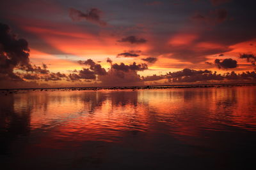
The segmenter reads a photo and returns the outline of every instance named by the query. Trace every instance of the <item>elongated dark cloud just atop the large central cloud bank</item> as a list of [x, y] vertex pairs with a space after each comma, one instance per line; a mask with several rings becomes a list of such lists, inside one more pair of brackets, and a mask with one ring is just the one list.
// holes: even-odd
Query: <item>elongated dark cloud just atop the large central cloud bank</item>
[[133, 62], [130, 65], [126, 65], [123, 62], [121, 64], [113, 64], [112, 65], [113, 69], [128, 72], [128, 71], [143, 71], [145, 69], [148, 69], [147, 64], [136, 64], [136, 62]]

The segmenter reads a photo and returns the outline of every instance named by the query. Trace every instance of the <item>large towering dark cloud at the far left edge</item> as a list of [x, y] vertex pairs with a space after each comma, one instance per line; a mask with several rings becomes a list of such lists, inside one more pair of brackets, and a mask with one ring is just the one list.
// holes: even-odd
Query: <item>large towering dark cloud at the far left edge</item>
[[0, 87], [38, 87], [38, 80], [58, 81], [65, 78], [67, 76], [60, 72], [51, 73], [44, 63], [42, 66], [31, 65], [28, 41], [17, 38], [8, 25], [0, 24]]

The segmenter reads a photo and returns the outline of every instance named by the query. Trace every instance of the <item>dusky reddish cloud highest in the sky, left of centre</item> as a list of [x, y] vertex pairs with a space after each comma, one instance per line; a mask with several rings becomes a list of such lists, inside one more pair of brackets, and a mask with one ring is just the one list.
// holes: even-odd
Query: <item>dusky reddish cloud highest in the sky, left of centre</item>
[[105, 26], [107, 25], [107, 23], [101, 20], [101, 15], [102, 15], [102, 11], [100, 11], [98, 8], [91, 8], [90, 10], [86, 11], [86, 13], [83, 13], [82, 11], [76, 10], [74, 8], [69, 9], [69, 16], [74, 21], [79, 21], [84, 19], [84, 20], [87, 20], [88, 22]]

